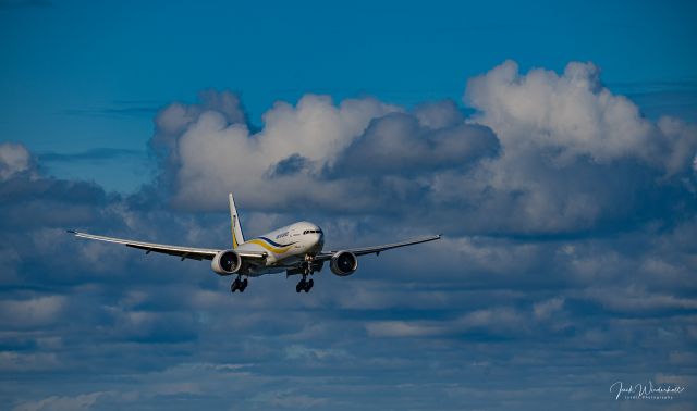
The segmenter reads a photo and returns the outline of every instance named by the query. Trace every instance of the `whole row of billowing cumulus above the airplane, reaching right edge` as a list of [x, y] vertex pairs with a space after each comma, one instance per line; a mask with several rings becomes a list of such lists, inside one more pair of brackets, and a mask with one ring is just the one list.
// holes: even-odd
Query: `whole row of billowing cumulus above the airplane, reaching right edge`
[[152, 144], [188, 210], [222, 210], [227, 190], [259, 211], [408, 220], [418, 203], [449, 234], [540, 235], [629, 229], [694, 197], [695, 126], [645, 119], [592, 63], [523, 74], [508, 61], [472, 78], [464, 102], [475, 114], [307, 95], [250, 129], [234, 95], [209, 91], [163, 109]]

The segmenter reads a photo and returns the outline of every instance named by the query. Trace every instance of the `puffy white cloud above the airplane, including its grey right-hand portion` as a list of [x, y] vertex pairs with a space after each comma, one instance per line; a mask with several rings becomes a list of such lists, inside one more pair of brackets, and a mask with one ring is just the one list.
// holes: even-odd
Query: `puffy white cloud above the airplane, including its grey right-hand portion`
[[[465, 124], [452, 101], [408, 113], [371, 98], [334, 105], [307, 95], [295, 107], [277, 103], [257, 132], [224, 111], [175, 103], [158, 115], [152, 144], [163, 149], [162, 180], [181, 207], [220, 209], [224, 199], [213, 192], [233, 190], [252, 209], [370, 211], [423, 189], [407, 187], [406, 167], [462, 170], [498, 151], [491, 130]], [[350, 192], [362, 195], [346, 201]]]

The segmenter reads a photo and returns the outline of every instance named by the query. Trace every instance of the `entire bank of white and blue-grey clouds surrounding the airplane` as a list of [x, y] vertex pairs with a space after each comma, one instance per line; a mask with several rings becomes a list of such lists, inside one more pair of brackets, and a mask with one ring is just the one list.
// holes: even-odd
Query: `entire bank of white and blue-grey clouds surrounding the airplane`
[[[695, 128], [656, 122], [591, 64], [508, 62], [413, 110], [305, 96], [250, 130], [208, 91], [156, 117], [160, 177], [133, 196], [42, 174], [0, 145], [0, 398], [16, 409], [540, 409], [697, 384]], [[264, 189], [261, 189], [264, 188]], [[253, 278], [76, 239], [200, 247], [294, 220], [328, 246], [444, 232], [348, 278]]]

